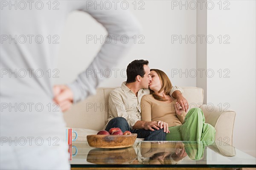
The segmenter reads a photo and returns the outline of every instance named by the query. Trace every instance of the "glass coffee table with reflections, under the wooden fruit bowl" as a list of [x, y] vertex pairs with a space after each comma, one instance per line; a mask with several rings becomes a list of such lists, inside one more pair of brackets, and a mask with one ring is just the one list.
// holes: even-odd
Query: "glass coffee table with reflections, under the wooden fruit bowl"
[[239, 169], [256, 167], [256, 158], [224, 142], [136, 141], [119, 149], [90, 147], [86, 141], [70, 146], [71, 169]]

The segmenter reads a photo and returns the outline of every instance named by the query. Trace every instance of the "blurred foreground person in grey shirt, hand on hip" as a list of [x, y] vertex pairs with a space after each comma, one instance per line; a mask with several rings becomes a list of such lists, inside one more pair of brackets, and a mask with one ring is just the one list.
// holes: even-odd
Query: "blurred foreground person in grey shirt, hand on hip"
[[[26, 2], [22, 2], [24, 6]], [[94, 77], [87, 70], [113, 68], [132, 41], [125, 44], [118, 39], [103, 44], [75, 82], [57, 86], [53, 92], [49, 71], [56, 68], [59, 44], [50, 44], [49, 38], [61, 34], [72, 11], [90, 14], [112, 38], [126, 35], [132, 39], [140, 32], [140, 24], [128, 10], [95, 9], [92, 3], [33, 1], [17, 9], [19, 1], [1, 1], [0, 169], [70, 169], [64, 142], [66, 125], [52, 100], [65, 111], [71, 103], [96, 93], [102, 77]], [[58, 10], [49, 10], [50, 5]]]

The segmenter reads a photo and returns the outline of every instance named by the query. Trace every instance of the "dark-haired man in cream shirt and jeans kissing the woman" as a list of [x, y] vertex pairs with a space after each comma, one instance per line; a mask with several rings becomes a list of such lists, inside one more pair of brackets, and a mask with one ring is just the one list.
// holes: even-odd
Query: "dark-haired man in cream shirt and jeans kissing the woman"
[[[167, 129], [155, 121], [146, 122], [141, 120], [140, 101], [145, 94], [150, 94], [148, 89], [151, 81], [150, 69], [147, 60], [134, 60], [127, 66], [127, 81], [120, 88], [114, 89], [109, 96], [109, 119], [105, 130], [119, 127], [123, 132], [126, 130], [137, 133], [138, 138], [147, 141], [163, 141], [166, 139]], [[183, 90], [174, 86], [171, 96], [177, 99], [183, 110], [187, 111], [188, 102], [182, 96]], [[187, 104], [187, 105], [186, 105]]]

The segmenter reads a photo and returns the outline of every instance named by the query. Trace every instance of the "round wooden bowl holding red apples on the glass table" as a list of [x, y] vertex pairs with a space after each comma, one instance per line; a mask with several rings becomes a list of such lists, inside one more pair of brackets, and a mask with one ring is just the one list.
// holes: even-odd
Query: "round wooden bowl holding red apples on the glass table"
[[136, 133], [131, 135], [88, 135], [87, 142], [91, 147], [123, 148], [132, 146], [136, 138]]

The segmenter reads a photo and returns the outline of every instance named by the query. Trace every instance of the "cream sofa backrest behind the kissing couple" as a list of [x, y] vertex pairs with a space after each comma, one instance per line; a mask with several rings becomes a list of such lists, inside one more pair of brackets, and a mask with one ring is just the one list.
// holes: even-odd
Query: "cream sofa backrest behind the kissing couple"
[[[113, 88], [97, 88], [96, 95], [73, 105], [64, 113], [67, 127], [102, 130], [108, 119], [108, 97]], [[204, 90], [196, 87], [182, 87], [183, 96], [189, 108], [199, 107], [204, 100]]]

